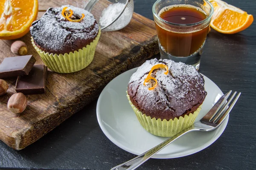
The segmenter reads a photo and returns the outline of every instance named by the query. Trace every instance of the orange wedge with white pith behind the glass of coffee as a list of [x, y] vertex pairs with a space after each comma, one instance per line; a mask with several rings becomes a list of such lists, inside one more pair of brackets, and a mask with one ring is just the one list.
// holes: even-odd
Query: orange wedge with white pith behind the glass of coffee
[[253, 16], [229, 5], [222, 0], [209, 0], [214, 7], [210, 26], [223, 34], [234, 34], [248, 28], [253, 23]]

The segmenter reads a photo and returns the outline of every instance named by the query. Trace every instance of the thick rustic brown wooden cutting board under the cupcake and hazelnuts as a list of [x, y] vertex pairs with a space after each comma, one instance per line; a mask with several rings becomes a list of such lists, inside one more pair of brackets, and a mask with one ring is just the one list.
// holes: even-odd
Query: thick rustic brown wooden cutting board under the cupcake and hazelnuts
[[[92, 13], [100, 16], [97, 8], [106, 7], [109, 2], [100, 0]], [[80, 0], [39, 0], [39, 9], [61, 5], [83, 7]], [[40, 18], [44, 12], [39, 12]], [[20, 38], [28, 45], [28, 54], [43, 64], [33, 48], [31, 35]], [[0, 40], [0, 62], [12, 54], [13, 40]], [[15, 150], [21, 150], [40, 139], [61, 122], [72, 116], [96, 99], [105, 85], [113, 78], [131, 68], [137, 67], [159, 52], [154, 21], [134, 13], [128, 26], [120, 31], [102, 32], [93, 62], [85, 69], [71, 74], [58, 74], [48, 70], [45, 94], [27, 95], [28, 106], [20, 115], [7, 109], [7, 102], [15, 92], [16, 78], [6, 79], [7, 94], [0, 96], [0, 140]]]

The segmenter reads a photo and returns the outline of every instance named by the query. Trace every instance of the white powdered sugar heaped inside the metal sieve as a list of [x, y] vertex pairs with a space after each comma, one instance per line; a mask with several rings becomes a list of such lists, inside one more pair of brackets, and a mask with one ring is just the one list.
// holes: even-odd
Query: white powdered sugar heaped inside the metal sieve
[[102, 15], [99, 18], [99, 24], [100, 26], [108, 26], [110, 23], [113, 22], [113, 20], [116, 19], [116, 17], [119, 16], [119, 14], [122, 12], [122, 10], [125, 8], [124, 3], [113, 3], [110, 4], [107, 8], [105, 8], [102, 11]]

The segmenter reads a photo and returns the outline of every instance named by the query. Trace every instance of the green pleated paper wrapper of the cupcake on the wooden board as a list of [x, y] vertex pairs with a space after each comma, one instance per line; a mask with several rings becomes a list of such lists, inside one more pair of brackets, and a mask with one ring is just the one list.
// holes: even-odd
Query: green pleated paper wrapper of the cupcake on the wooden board
[[83, 47], [78, 51], [70, 52], [69, 54], [65, 53], [57, 55], [52, 53], [49, 54], [48, 52], [46, 53], [35, 45], [32, 37], [31, 41], [33, 47], [49, 69], [57, 73], [73, 73], [86, 68], [93, 61], [100, 34], [101, 30], [99, 28], [97, 37], [90, 43], [90, 45], [86, 45], [86, 47]]

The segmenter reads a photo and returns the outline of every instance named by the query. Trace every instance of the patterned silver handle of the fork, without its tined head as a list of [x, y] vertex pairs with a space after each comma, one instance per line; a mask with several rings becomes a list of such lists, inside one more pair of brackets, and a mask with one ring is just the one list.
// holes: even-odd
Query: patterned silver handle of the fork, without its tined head
[[180, 136], [183, 136], [184, 134], [195, 131], [197, 129], [194, 128], [194, 125], [180, 131], [175, 136], [170, 137], [166, 141], [158, 144], [157, 146], [153, 147], [152, 149], [146, 151], [145, 153], [135, 157], [134, 159], [131, 159], [125, 163], [119, 164], [116, 167], [111, 168], [111, 170], [135, 170], [137, 167], [139, 167], [141, 164], [143, 164], [145, 161], [150, 159], [152, 156], [154, 156], [156, 153], [158, 153], [160, 150], [168, 146], [170, 143], [178, 139]]

